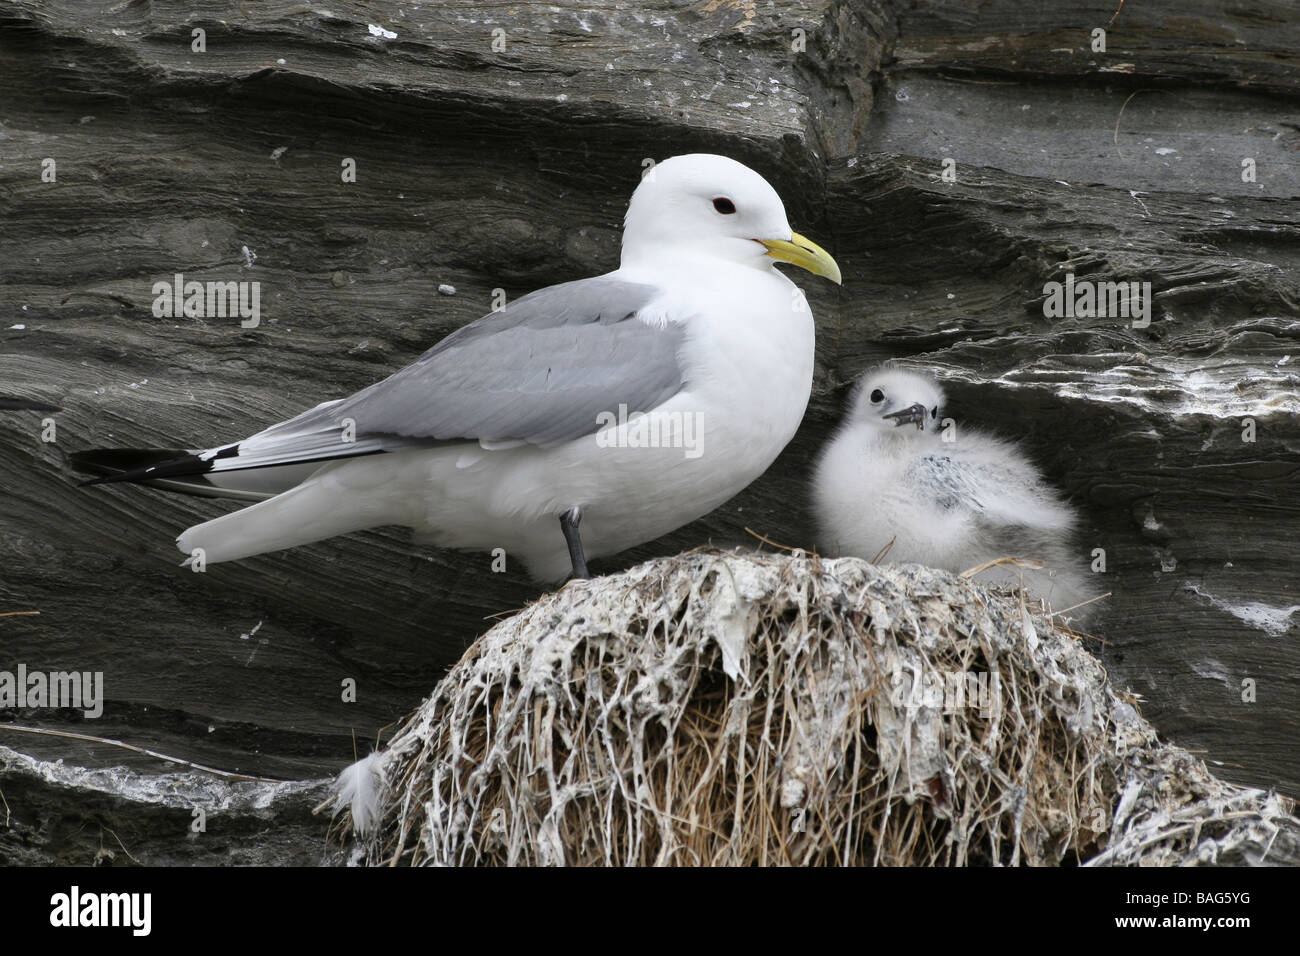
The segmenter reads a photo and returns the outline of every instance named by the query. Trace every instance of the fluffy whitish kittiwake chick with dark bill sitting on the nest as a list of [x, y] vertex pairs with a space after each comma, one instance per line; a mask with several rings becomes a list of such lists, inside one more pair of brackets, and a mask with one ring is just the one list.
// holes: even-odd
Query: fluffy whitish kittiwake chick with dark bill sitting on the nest
[[[942, 418], [944, 393], [892, 365], [866, 372], [812, 479], [819, 545], [831, 554], [967, 571], [1066, 610], [1096, 596], [1071, 542], [1076, 518], [1014, 445]], [[892, 544], [890, 544], [892, 542]], [[887, 550], [888, 549], [888, 550]], [[1092, 606], [1074, 614], [1084, 617]]]

